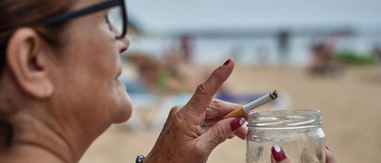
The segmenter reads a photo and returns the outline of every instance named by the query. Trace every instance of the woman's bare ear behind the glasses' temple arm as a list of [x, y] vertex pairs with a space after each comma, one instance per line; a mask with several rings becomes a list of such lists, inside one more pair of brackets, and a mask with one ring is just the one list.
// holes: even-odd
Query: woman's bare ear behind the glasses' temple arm
[[53, 94], [49, 77], [48, 51], [44, 40], [32, 28], [19, 28], [11, 36], [6, 48], [7, 64], [12, 76], [24, 93], [35, 98]]

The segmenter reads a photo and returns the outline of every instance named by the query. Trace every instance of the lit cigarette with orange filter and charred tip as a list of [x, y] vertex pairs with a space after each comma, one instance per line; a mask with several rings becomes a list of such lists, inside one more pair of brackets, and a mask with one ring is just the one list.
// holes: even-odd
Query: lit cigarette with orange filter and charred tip
[[230, 113], [227, 113], [224, 115], [224, 119], [231, 118], [231, 117], [241, 117], [242, 115], [245, 115], [249, 113], [251, 110], [254, 110], [257, 107], [260, 107], [263, 104], [266, 104], [267, 102], [273, 101], [278, 97], [278, 93], [276, 90], [273, 92], [266, 94], [262, 96], [259, 99], [256, 99], [255, 101], [252, 101], [246, 105], [243, 105], [242, 107], [233, 110]]

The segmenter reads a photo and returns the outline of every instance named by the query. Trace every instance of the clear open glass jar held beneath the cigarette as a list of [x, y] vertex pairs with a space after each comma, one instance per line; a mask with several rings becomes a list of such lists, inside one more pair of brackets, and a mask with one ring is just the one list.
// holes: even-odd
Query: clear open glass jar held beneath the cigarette
[[248, 115], [246, 163], [271, 163], [277, 144], [293, 163], [325, 163], [319, 110], [272, 110]]

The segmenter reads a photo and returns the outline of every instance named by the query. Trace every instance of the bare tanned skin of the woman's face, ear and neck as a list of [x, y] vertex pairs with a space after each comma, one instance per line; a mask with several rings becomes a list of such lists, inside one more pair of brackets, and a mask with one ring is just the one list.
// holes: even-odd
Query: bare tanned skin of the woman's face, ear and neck
[[[99, 0], [78, 0], [73, 10]], [[119, 54], [129, 38], [115, 39], [106, 12], [70, 20], [62, 45], [19, 28], [7, 47], [0, 108], [14, 127], [0, 162], [77, 162], [112, 123], [131, 115], [131, 102], [117, 80]]]

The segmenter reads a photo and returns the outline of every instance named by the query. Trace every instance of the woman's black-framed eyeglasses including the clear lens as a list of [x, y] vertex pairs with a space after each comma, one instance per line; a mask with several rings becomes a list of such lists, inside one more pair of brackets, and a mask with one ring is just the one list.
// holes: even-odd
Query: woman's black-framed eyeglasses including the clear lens
[[109, 0], [102, 2], [82, 10], [64, 13], [52, 18], [48, 18], [40, 22], [40, 25], [49, 26], [58, 24], [69, 19], [91, 14], [97, 11], [109, 9], [107, 12], [107, 22], [110, 24], [112, 30], [116, 30], [116, 38], [123, 38], [127, 34], [128, 16], [126, 10], [125, 0]]

